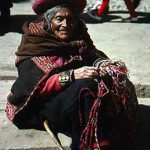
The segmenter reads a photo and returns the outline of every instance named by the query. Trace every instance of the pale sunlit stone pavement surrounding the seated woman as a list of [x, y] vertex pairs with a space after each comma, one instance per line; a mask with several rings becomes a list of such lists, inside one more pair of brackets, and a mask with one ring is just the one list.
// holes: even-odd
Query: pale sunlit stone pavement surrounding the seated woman
[[[88, 6], [93, 4], [93, 1], [88, 0]], [[123, 60], [129, 69], [129, 76], [136, 87], [140, 103], [144, 141], [141, 150], [149, 150], [150, 1], [143, 0], [137, 8], [139, 23], [122, 23], [120, 17], [128, 16], [123, 2], [110, 2], [110, 14], [103, 23], [88, 18], [86, 9], [84, 19], [95, 46], [110, 58]], [[21, 25], [24, 21], [35, 18], [31, 3], [30, 0], [14, 3], [11, 9], [12, 23], [7, 27], [0, 26], [0, 150], [56, 149], [47, 133], [18, 130], [7, 120], [4, 112], [7, 94], [17, 76], [14, 53], [21, 40]], [[62, 144], [68, 147], [70, 138], [62, 134], [60, 136]]]

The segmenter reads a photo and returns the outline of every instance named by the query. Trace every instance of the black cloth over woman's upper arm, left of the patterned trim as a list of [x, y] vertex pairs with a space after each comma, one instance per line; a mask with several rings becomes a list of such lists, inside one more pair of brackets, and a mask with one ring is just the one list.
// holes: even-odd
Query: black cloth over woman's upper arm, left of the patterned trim
[[12, 95], [8, 100], [13, 105], [19, 105], [30, 95], [34, 86], [44, 75], [30, 59], [18, 65], [18, 77], [11, 88]]

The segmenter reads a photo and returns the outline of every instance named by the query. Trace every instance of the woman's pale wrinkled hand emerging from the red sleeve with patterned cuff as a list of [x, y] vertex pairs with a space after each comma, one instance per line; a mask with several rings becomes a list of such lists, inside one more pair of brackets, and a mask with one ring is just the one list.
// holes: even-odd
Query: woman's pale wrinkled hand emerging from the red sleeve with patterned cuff
[[98, 78], [99, 73], [96, 67], [84, 66], [74, 70], [75, 79]]

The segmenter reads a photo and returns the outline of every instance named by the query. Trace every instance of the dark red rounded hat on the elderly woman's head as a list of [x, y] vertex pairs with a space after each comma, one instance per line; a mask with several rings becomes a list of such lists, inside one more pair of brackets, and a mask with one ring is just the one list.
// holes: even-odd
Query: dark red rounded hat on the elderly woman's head
[[86, 6], [86, 0], [35, 0], [32, 9], [36, 14], [41, 15], [46, 10], [58, 4], [70, 4], [76, 8], [77, 12], [82, 13]]

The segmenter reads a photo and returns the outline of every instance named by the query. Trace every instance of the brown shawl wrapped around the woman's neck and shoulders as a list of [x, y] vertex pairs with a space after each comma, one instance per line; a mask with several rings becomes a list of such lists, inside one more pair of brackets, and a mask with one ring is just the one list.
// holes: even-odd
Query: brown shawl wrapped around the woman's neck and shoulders
[[[53, 34], [44, 30], [44, 22], [26, 22], [23, 25], [23, 36], [21, 44], [16, 52], [16, 64], [24, 59], [34, 56], [68, 56], [78, 55], [85, 52], [85, 45], [92, 50], [96, 50], [90, 36], [87, 33], [85, 24], [80, 21], [79, 28], [75, 32], [71, 42], [64, 42]], [[103, 52], [96, 50], [94, 55], [107, 57]]]

